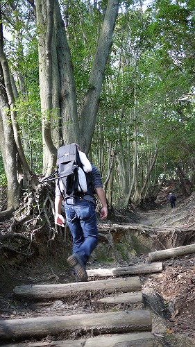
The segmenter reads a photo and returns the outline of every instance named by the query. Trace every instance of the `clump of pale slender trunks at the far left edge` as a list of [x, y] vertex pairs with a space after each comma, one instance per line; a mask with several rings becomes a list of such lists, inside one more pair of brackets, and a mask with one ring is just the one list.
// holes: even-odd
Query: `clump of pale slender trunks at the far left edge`
[[[0, 9], [1, 19], [1, 9]], [[0, 21], [1, 22], [1, 21]], [[3, 51], [3, 26], [0, 24], [0, 63], [1, 63], [1, 151], [8, 182], [8, 212], [19, 207], [21, 194], [20, 183], [28, 187], [31, 169], [26, 161], [22, 141], [19, 135], [17, 114], [15, 111], [15, 96], [12, 90], [8, 60]], [[24, 185], [24, 183], [23, 183]], [[5, 212], [3, 212], [5, 214]]]

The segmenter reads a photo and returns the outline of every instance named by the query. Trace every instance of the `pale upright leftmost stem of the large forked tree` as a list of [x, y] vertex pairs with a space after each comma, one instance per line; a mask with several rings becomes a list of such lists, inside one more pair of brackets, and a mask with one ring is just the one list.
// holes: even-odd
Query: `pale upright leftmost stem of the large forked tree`
[[36, 1], [37, 28], [39, 28], [39, 74], [42, 109], [43, 173], [48, 176], [56, 167], [57, 151], [51, 138], [52, 104], [52, 43], [54, 1]]

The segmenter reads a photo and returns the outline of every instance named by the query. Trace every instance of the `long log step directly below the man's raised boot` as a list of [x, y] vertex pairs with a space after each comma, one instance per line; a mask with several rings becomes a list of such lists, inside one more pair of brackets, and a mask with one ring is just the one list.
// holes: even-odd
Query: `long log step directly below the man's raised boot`
[[57, 285], [21, 285], [16, 286], [13, 291], [16, 296], [22, 298], [67, 298], [80, 295], [81, 292], [104, 291], [139, 291], [142, 289], [139, 277], [115, 278], [111, 280], [96, 280], [93, 282], [76, 282]]

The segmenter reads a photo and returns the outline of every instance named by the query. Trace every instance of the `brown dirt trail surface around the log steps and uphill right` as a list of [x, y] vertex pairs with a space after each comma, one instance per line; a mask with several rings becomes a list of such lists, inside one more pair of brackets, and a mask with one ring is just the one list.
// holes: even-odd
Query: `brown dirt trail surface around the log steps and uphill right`
[[[178, 200], [176, 208], [171, 210], [169, 203], [150, 211], [131, 212], [132, 220], [137, 221], [137, 226], [145, 226], [144, 230], [167, 230], [167, 238], [175, 241], [186, 242], [185, 238], [179, 235], [188, 235], [188, 230], [193, 230], [195, 219], [195, 194], [187, 200]], [[128, 222], [128, 219], [126, 219]], [[129, 225], [132, 227], [136, 224]], [[122, 226], [122, 223], [121, 223]], [[140, 228], [142, 229], [142, 228]], [[182, 231], [181, 231], [182, 230]], [[154, 234], [154, 232], [152, 232]], [[166, 234], [166, 232], [165, 232]], [[171, 235], [171, 236], [170, 236]], [[165, 235], [166, 236], [166, 235]], [[147, 237], [147, 235], [146, 235]], [[187, 238], [186, 238], [187, 239]], [[170, 241], [170, 240], [168, 240]], [[188, 242], [193, 243], [193, 239]], [[194, 242], [195, 243], [195, 242]], [[54, 243], [53, 243], [54, 244]], [[58, 240], [55, 244], [58, 244]], [[58, 245], [57, 245], [58, 246]], [[1, 264], [1, 297], [0, 297], [0, 317], [1, 319], [12, 319], [21, 317], [31, 317], [36, 315], [58, 315], [63, 312], [90, 313], [88, 298], [76, 298], [71, 308], [63, 300], [45, 301], [35, 304], [25, 300], [16, 300], [12, 296], [12, 289], [15, 285], [22, 284], [52, 284], [71, 283], [74, 276], [71, 269], [65, 269], [65, 255], [59, 254], [59, 248], [53, 248], [56, 258], [43, 254], [34, 264], [26, 263], [26, 266], [8, 266]], [[183, 246], [183, 244], [180, 244]], [[56, 251], [56, 253], [55, 253]], [[17, 256], [15, 256], [17, 260]], [[13, 260], [13, 262], [15, 261]], [[135, 264], [148, 262], [147, 254], [140, 254], [135, 257]], [[56, 267], [56, 264], [58, 266]], [[121, 266], [126, 262], [121, 261]], [[195, 346], [195, 255], [176, 257], [175, 259], [163, 262], [163, 271], [158, 274], [148, 274], [140, 276], [142, 290], [144, 293], [144, 303], [146, 308], [151, 310], [153, 317], [153, 346], [154, 347], [183, 347]], [[117, 262], [105, 264], [101, 262], [91, 263], [92, 267], [120, 266]], [[89, 267], [90, 269], [90, 267]], [[49, 345], [48, 345], [49, 346]]]

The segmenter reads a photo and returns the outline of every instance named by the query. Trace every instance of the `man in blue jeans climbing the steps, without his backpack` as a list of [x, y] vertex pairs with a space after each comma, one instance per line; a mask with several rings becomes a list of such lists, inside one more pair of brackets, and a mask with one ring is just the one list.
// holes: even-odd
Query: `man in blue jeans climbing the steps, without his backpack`
[[108, 208], [105, 198], [105, 192], [103, 190], [101, 176], [99, 171], [94, 165], [86, 161], [85, 153], [81, 151], [80, 146], [76, 144], [78, 153], [80, 155], [80, 161], [87, 164], [91, 173], [87, 174], [91, 177], [91, 182], [88, 179], [87, 192], [82, 194], [78, 192], [78, 196], [71, 196], [65, 194], [65, 186], [60, 180], [60, 185], [56, 184], [56, 197], [55, 197], [55, 223], [58, 226], [65, 226], [65, 219], [61, 214], [62, 200], [64, 200], [66, 221], [71, 235], [73, 238], [73, 251], [67, 259], [67, 262], [74, 268], [74, 274], [76, 280], [86, 282], [87, 272], [85, 270], [87, 260], [90, 257], [94, 248], [98, 244], [98, 228], [96, 223], [96, 201], [94, 198], [94, 189], [101, 202], [100, 218], [106, 219], [108, 216]]

